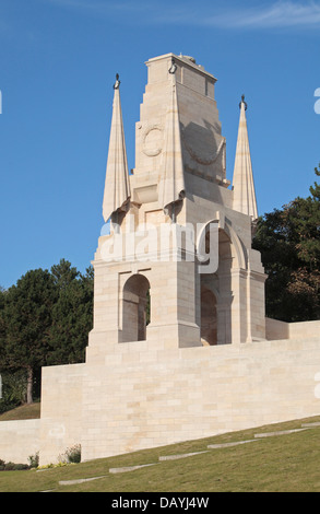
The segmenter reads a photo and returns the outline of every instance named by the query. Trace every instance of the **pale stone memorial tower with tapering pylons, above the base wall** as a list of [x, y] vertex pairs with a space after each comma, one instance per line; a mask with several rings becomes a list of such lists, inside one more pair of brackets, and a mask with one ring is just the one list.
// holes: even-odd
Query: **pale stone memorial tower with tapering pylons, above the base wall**
[[188, 56], [167, 54], [146, 67], [130, 173], [118, 75], [114, 85], [103, 203], [110, 234], [93, 262], [88, 359], [135, 340], [181, 348], [265, 337], [247, 104], [242, 97], [232, 186], [216, 79]]

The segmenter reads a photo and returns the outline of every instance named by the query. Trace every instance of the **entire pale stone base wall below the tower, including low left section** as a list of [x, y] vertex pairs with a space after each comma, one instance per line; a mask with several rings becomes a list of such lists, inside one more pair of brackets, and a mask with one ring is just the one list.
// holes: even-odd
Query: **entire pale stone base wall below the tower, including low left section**
[[44, 370], [42, 420], [1, 422], [0, 458], [56, 463], [81, 443], [86, 460], [317, 416], [319, 372], [319, 337], [106, 344], [99, 361]]

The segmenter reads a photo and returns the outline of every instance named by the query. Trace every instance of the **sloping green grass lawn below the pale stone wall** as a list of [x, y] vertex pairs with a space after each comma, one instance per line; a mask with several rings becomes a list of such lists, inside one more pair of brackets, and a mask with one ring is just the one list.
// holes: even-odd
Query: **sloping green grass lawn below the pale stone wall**
[[[209, 444], [250, 440], [259, 432], [299, 429], [303, 422], [315, 421], [320, 416], [44, 471], [1, 471], [0, 492], [320, 492], [320, 427], [179, 460], [158, 460], [159, 456], [202, 452]], [[109, 468], [144, 464], [153, 466], [109, 472]], [[103, 478], [59, 484], [94, 477]]]

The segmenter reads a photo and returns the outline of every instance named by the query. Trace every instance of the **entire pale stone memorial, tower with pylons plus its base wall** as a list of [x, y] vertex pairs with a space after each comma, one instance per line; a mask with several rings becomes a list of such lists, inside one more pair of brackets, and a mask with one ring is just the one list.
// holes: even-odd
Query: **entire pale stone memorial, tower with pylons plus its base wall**
[[85, 460], [319, 413], [320, 322], [265, 318], [246, 100], [230, 183], [216, 79], [189, 56], [146, 67], [132, 171], [114, 84], [93, 329], [84, 363], [43, 369], [40, 464], [74, 444]]

